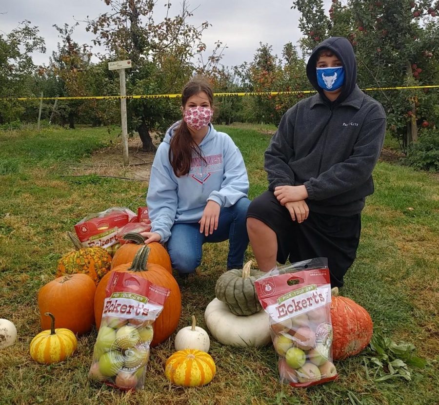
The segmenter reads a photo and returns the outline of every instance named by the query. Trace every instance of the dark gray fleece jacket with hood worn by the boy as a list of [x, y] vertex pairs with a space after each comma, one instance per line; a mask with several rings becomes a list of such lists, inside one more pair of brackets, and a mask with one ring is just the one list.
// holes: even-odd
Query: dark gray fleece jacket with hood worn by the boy
[[[332, 50], [345, 69], [345, 82], [334, 102], [317, 84], [316, 63], [322, 48]], [[311, 212], [359, 213], [365, 197], [374, 192], [372, 171], [384, 141], [384, 110], [357, 86], [355, 55], [345, 38], [319, 44], [306, 72], [318, 94], [299, 101], [281, 118], [265, 152], [269, 190], [305, 185]]]

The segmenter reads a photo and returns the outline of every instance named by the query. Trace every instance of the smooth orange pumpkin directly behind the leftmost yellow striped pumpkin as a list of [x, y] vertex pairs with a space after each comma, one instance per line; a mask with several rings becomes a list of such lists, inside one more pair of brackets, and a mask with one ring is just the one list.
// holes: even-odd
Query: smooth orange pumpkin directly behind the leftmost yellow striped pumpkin
[[70, 329], [77, 335], [91, 330], [95, 323], [93, 311], [96, 285], [86, 274], [68, 274], [50, 281], [40, 288], [38, 308], [41, 328], [51, 328], [50, 312], [55, 316], [55, 327]]

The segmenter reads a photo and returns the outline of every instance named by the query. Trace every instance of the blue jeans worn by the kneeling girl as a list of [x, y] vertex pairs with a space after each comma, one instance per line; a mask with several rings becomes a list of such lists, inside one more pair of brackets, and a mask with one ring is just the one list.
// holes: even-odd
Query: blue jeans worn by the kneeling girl
[[199, 223], [174, 224], [167, 243], [173, 269], [180, 274], [194, 272], [201, 263], [203, 244], [227, 239], [229, 240], [227, 268], [242, 269], [244, 252], [248, 245], [246, 215], [249, 205], [250, 200], [242, 197], [232, 207], [221, 208], [218, 229], [208, 236], [200, 233]]

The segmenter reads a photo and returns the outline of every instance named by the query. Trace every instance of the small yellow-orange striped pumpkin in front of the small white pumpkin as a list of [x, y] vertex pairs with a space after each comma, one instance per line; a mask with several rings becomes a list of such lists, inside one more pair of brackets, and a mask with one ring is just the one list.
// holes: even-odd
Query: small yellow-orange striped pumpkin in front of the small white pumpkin
[[166, 378], [177, 386], [204, 386], [214, 378], [217, 367], [210, 354], [196, 349], [176, 351], [166, 361]]

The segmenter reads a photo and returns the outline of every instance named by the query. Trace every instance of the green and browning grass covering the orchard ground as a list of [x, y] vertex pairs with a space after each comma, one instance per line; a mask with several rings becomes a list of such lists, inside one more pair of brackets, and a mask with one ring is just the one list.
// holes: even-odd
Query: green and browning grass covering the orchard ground
[[[274, 128], [220, 127], [230, 134], [246, 161], [250, 198], [266, 188], [263, 151]], [[144, 204], [146, 183], [69, 176], [69, 165], [116, 141], [106, 129], [45, 129], [41, 133], [0, 132], [0, 317], [10, 319], [18, 342], [0, 351], [0, 404], [323, 404], [431, 405], [439, 397], [439, 180], [407, 167], [379, 163], [375, 193], [362, 215], [357, 259], [342, 294], [364, 306], [377, 330], [407, 341], [428, 360], [412, 369], [412, 380], [377, 382], [360, 354], [336, 363], [339, 380], [308, 389], [281, 386], [272, 346], [235, 348], [212, 340], [218, 372], [201, 388], [171, 386], [163, 366], [173, 336], [152, 349], [145, 389], [120, 393], [88, 378], [96, 331], [79, 339], [75, 356], [41, 366], [28, 347], [40, 332], [37, 294], [53, 279], [57, 261], [72, 247], [66, 231], [90, 212], [112, 206], [136, 211]], [[181, 285], [179, 328], [203, 312], [214, 298], [225, 270], [227, 243], [206, 245], [195, 277]], [[247, 256], [251, 257], [249, 248]]]

